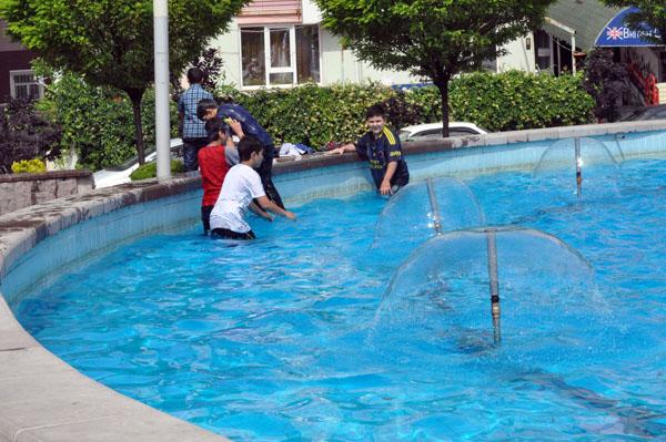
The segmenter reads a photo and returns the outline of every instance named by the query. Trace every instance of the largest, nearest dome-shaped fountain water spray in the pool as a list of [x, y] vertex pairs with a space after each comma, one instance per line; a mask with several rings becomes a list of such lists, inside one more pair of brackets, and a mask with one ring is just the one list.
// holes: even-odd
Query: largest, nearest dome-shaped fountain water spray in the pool
[[[488, 250], [488, 232], [496, 241], [494, 294], [498, 307], [503, 292], [502, 333], [498, 320], [496, 333], [488, 333], [484, 307], [492, 279], [488, 257], [495, 254]], [[398, 268], [375, 315], [371, 342], [372, 337], [381, 337], [374, 342], [380, 347], [391, 342], [391, 351], [406, 353], [401, 360], [476, 354], [491, 349], [493, 340], [521, 354], [563, 346], [586, 351], [577, 327], [606, 313], [592, 267], [558, 238], [524, 228], [460, 230], [431, 238]]]

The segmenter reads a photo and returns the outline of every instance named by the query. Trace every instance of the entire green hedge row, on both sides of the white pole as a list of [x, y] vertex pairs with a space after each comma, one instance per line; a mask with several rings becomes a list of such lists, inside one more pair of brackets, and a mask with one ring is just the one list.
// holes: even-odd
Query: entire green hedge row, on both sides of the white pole
[[[304, 143], [321, 148], [330, 141], [354, 141], [365, 130], [365, 110], [384, 103], [390, 124], [403, 127], [441, 121], [436, 88], [396, 92], [376, 83], [231, 93], [266, 127], [276, 144]], [[582, 89], [581, 76], [552, 76], [506, 72], [463, 75], [451, 83], [451, 120], [468, 121], [488, 131], [582, 124], [591, 121], [593, 99]], [[178, 114], [171, 103], [172, 136]], [[81, 78], [64, 74], [47, 89], [40, 111], [62, 126], [61, 147], [75, 148], [79, 165], [93, 171], [117, 165], [135, 155], [132, 109], [124, 93], [93, 88]], [[147, 144], [154, 140], [154, 94], [143, 99]]]

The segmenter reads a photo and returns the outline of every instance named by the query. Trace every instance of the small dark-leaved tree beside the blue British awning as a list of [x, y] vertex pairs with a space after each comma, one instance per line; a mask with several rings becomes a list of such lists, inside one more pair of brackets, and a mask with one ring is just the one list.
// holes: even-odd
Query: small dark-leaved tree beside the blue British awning
[[627, 92], [627, 69], [613, 61], [613, 51], [597, 48], [587, 56], [583, 88], [596, 102], [594, 115], [597, 119], [617, 120], [617, 104]]

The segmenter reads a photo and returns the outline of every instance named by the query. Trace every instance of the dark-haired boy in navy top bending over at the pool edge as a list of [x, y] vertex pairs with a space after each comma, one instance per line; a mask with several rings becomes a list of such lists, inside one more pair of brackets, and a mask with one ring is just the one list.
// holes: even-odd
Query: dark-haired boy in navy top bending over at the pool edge
[[275, 156], [275, 145], [271, 135], [262, 127], [252, 114], [243, 106], [231, 101], [218, 106], [214, 100], [201, 100], [196, 105], [196, 115], [203, 121], [212, 119], [231, 119], [241, 123], [241, 131], [235, 132], [239, 138], [245, 135], [258, 138], [263, 146], [263, 162], [256, 169], [261, 177], [261, 183], [269, 199], [284, 208], [282, 197], [273, 184], [273, 157]]

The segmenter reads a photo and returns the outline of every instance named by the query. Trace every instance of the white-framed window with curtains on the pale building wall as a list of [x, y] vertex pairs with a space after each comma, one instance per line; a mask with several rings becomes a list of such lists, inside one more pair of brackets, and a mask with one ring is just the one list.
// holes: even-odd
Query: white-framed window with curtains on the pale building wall
[[321, 81], [319, 25], [241, 28], [243, 86]]

